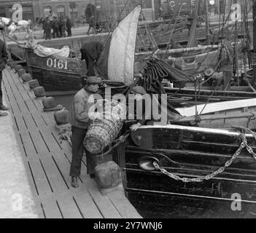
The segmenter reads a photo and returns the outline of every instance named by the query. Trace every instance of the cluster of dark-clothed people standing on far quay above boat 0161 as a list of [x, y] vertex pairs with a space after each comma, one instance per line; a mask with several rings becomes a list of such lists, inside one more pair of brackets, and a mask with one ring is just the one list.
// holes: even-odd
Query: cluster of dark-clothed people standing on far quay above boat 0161
[[44, 39], [61, 38], [72, 36], [71, 33], [71, 19], [69, 17], [46, 17], [43, 22]]

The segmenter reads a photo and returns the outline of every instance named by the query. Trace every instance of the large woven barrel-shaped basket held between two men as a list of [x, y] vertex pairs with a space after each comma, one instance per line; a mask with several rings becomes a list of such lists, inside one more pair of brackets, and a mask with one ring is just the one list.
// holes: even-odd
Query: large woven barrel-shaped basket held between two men
[[92, 154], [101, 153], [117, 137], [123, 126], [126, 115], [126, 106], [123, 103], [112, 101], [111, 112], [104, 112], [103, 119], [96, 119], [88, 128], [84, 146]]

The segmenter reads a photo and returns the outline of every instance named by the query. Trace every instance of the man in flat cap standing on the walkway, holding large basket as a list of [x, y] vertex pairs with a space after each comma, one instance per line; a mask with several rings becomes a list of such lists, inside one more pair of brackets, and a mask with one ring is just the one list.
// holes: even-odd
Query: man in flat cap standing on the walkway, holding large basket
[[[71, 106], [71, 125], [72, 125], [72, 161], [70, 167], [71, 186], [78, 187], [77, 178], [80, 175], [83, 151], [86, 153], [87, 173], [94, 178], [93, 170], [97, 165], [97, 157], [87, 151], [83, 146], [85, 135], [90, 125], [89, 109], [93, 103], [89, 103], [90, 95], [98, 92], [101, 78], [89, 76], [85, 87], [83, 87], [76, 95]], [[95, 115], [97, 117], [97, 113]]]

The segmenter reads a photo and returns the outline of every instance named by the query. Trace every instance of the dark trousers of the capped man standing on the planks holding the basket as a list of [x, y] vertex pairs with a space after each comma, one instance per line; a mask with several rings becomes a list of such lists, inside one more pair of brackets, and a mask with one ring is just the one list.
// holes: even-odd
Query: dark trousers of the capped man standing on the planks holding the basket
[[96, 165], [98, 165], [96, 155], [91, 154], [90, 151], [86, 150], [83, 145], [86, 133], [87, 129], [72, 126], [72, 161], [69, 173], [69, 175], [72, 177], [77, 177], [80, 175], [83, 151], [86, 153], [88, 174], [93, 174], [94, 168]]

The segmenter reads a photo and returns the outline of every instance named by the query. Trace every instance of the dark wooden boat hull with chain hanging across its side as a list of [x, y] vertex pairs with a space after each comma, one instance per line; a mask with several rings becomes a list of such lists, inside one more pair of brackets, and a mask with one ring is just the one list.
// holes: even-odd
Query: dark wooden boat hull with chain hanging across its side
[[[255, 150], [252, 135], [247, 141]], [[123, 170], [127, 197], [144, 217], [255, 218], [256, 160], [246, 149], [225, 171], [199, 183], [176, 181], [139, 166], [145, 157], [154, 157], [160, 167], [182, 178], [205, 176], [224, 166], [240, 145], [240, 133], [230, 130], [144, 126], [117, 149], [115, 159]], [[241, 197], [239, 211], [233, 208], [236, 197]]]

